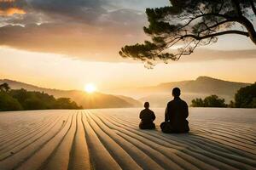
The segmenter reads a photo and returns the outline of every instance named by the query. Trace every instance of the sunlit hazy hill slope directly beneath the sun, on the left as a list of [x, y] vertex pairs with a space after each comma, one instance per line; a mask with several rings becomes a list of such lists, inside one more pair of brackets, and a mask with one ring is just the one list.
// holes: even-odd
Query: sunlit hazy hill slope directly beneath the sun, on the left
[[0, 84], [7, 82], [12, 89], [24, 88], [27, 91], [38, 91], [54, 95], [55, 98], [70, 98], [84, 108], [123, 108], [140, 107], [141, 102], [126, 96], [115, 96], [110, 94], [94, 93], [87, 94], [79, 90], [59, 90], [50, 88], [39, 88], [24, 82], [16, 82], [8, 79], [0, 79]]

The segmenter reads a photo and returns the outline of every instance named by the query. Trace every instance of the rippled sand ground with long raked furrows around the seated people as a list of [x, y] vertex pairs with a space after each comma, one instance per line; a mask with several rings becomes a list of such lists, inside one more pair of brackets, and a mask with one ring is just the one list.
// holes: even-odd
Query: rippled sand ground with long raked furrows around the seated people
[[189, 109], [190, 133], [140, 130], [140, 109], [0, 113], [0, 169], [256, 169], [256, 110]]

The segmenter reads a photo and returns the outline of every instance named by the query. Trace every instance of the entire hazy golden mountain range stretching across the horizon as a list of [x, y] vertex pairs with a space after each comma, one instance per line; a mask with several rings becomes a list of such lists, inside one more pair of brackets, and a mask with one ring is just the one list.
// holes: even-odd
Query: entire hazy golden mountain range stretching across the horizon
[[[119, 89], [112, 94], [93, 93], [87, 94], [80, 90], [60, 90], [51, 88], [39, 88], [24, 82], [3, 79], [13, 89], [24, 88], [28, 91], [39, 91], [54, 95], [55, 98], [70, 98], [86, 108], [122, 108], [141, 107], [142, 103], [148, 101], [151, 106], [163, 107], [172, 99], [172, 88], [178, 87], [182, 90], [181, 97], [189, 104], [192, 99], [204, 98], [216, 94], [224, 98], [227, 103], [234, 99], [236, 91], [250, 85], [246, 82], [229, 82], [212, 77], [198, 77], [195, 80], [181, 82], [165, 82], [157, 86], [142, 88]], [[119, 95], [122, 94], [122, 95]], [[131, 97], [127, 97], [131, 96]], [[136, 98], [136, 99], [134, 99]]]

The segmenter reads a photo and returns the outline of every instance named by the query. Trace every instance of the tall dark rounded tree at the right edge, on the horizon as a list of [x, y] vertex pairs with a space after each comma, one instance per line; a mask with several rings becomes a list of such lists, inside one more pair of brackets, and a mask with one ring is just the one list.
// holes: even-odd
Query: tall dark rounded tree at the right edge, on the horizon
[[235, 106], [239, 108], [256, 108], [256, 82], [237, 91]]

